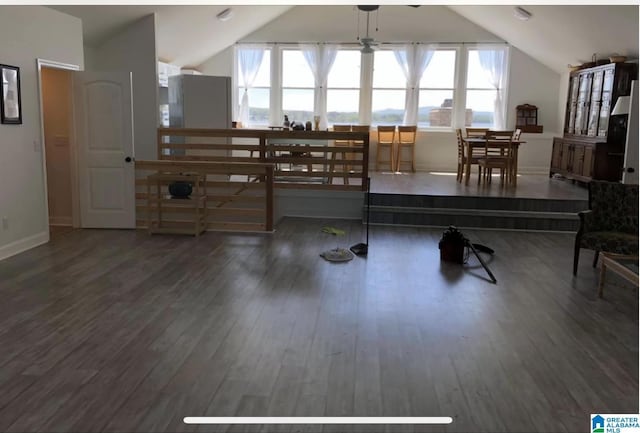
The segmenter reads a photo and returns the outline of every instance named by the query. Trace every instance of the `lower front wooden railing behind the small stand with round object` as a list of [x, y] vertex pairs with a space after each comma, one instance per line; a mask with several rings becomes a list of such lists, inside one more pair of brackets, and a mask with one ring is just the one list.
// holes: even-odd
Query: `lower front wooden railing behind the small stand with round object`
[[149, 228], [153, 221], [154, 227], [165, 231], [193, 231], [193, 215], [185, 210], [185, 200], [189, 199], [173, 199], [167, 193], [172, 175], [177, 179], [188, 173], [203, 180], [204, 204], [194, 203], [191, 207], [202, 207], [195, 214], [204, 216], [204, 229], [273, 230], [273, 164], [140, 160], [135, 164], [139, 228]]

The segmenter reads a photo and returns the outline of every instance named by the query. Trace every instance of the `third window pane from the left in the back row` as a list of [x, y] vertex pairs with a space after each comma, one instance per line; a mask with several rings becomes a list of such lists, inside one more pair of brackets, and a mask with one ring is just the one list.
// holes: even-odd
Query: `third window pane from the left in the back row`
[[360, 101], [360, 51], [340, 50], [327, 79], [327, 120], [358, 123]]

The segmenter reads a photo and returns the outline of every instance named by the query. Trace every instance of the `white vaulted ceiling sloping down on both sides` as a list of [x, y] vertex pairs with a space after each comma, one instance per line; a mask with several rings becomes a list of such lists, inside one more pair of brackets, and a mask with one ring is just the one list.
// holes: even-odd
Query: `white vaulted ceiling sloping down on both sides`
[[[195, 67], [295, 7], [266, 5], [207, 6], [51, 6], [83, 21], [85, 43], [97, 46], [122, 27], [156, 13], [158, 57]], [[231, 7], [234, 16], [216, 15]], [[400, 6], [385, 6], [400, 7]], [[590, 61], [594, 53], [638, 58], [636, 5], [526, 5], [532, 17], [520, 21], [513, 6], [450, 5], [449, 8], [557, 72], [567, 64]], [[420, 9], [415, 9], [415, 13]]]

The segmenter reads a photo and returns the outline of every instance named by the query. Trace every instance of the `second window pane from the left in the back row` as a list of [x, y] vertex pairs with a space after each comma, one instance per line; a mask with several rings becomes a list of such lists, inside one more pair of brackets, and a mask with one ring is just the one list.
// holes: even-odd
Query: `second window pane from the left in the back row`
[[282, 112], [290, 121], [313, 119], [315, 80], [300, 50], [282, 51]]

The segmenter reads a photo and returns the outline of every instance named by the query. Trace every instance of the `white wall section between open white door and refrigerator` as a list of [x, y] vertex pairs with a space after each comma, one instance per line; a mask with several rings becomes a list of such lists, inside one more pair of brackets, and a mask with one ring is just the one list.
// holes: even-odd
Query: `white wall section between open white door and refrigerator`
[[133, 72], [133, 123], [135, 156], [155, 159], [159, 121], [158, 60], [155, 15], [146, 16], [95, 47], [93, 63], [100, 71]]

